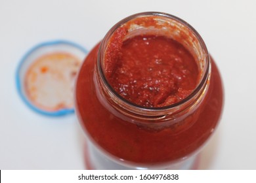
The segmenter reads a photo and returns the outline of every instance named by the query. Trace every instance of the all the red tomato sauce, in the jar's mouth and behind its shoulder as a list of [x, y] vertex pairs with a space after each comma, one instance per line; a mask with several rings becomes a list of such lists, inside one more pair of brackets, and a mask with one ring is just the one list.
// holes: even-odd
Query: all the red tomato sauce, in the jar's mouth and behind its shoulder
[[[140, 107], [158, 108], [181, 101], [198, 86], [198, 64], [182, 44], [160, 35], [136, 35], [122, 42], [125, 33], [117, 29], [104, 55], [104, 75], [117, 95]], [[122, 161], [154, 165], [186, 158], [209, 139], [223, 106], [221, 76], [213, 59], [209, 88], [199, 107], [181, 122], [148, 130], [120, 118], [98, 97], [98, 51], [99, 44], [83, 62], [75, 91], [77, 116], [96, 146]]]

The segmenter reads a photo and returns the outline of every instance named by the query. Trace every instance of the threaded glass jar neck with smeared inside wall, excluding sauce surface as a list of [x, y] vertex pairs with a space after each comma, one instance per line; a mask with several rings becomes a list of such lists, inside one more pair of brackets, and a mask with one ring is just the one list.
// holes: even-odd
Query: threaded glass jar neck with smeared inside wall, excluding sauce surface
[[[118, 44], [135, 37], [137, 35], [156, 35], [171, 38], [181, 43], [192, 54], [199, 68], [199, 81], [192, 93], [178, 103], [165, 107], [141, 107], [121, 97], [110, 86], [104, 67], [104, 59], [108, 46], [114, 42]], [[116, 42], [115, 42], [116, 41]], [[106, 108], [112, 110], [114, 114], [119, 113], [127, 116], [127, 120], [133, 119], [136, 122], [165, 122], [184, 118], [190, 114], [202, 102], [209, 86], [211, 76], [211, 63], [205, 43], [197, 31], [183, 20], [160, 12], [144, 12], [129, 16], [118, 22], [104, 37], [98, 50], [98, 57], [95, 69], [95, 84], [98, 90], [97, 96], [100, 101], [106, 105]], [[117, 114], [117, 116], [119, 115]]]

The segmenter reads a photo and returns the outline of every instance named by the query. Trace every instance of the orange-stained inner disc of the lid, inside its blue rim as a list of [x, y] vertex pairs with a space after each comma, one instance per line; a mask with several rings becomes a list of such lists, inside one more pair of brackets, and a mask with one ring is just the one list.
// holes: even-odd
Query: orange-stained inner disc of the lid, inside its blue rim
[[81, 60], [66, 52], [45, 54], [30, 65], [24, 86], [28, 99], [47, 111], [74, 107], [74, 81]]

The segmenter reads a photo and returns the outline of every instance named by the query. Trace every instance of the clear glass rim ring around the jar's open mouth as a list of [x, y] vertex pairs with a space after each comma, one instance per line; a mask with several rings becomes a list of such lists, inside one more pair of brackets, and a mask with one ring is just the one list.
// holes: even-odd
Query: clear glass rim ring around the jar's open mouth
[[[143, 16], [158, 16], [160, 18], [161, 17], [170, 18], [171, 20], [174, 20], [174, 21], [179, 22], [180, 24], [186, 26], [194, 34], [196, 39], [198, 39], [198, 42], [200, 43], [200, 46], [202, 47], [202, 50], [205, 52], [205, 58], [204, 58], [204, 60], [205, 60], [205, 67], [204, 68], [205, 69], [203, 71], [203, 74], [202, 74], [196, 88], [194, 88], [194, 90], [190, 93], [190, 95], [188, 95], [187, 97], [185, 97], [181, 101], [178, 101], [177, 103], [173, 103], [171, 105], [166, 105], [166, 106], [163, 106], [163, 107], [144, 107], [144, 106], [132, 103], [131, 101], [128, 101], [124, 97], [121, 97], [121, 95], [119, 95], [119, 93], [117, 93], [114, 90], [114, 88], [112, 88], [112, 86], [108, 82], [108, 80], [106, 78], [106, 75], [104, 73], [104, 69], [103, 69], [103, 65], [102, 65], [103, 60], [104, 60], [104, 49], [103, 48], [104, 48], [104, 46], [106, 46], [106, 43], [108, 42], [110, 37], [112, 37], [113, 33], [121, 25], [124, 25], [125, 23], [129, 22], [130, 20], [133, 20], [135, 18], [140, 18], [140, 17], [143, 17]], [[198, 33], [198, 31], [196, 31], [196, 29], [194, 29], [194, 27], [192, 27], [190, 24], [188, 24], [187, 22], [185, 22], [181, 18], [178, 18], [177, 16], [173, 16], [173, 15], [167, 14], [165, 12], [140, 12], [140, 13], [128, 16], [127, 18], [124, 18], [123, 20], [117, 22], [117, 24], [115, 24], [108, 31], [108, 33], [106, 33], [104, 39], [102, 39], [102, 42], [100, 43], [98, 56], [97, 56], [96, 67], [98, 67], [99, 75], [100, 75], [100, 78], [103, 81], [104, 86], [106, 86], [106, 88], [108, 88], [108, 90], [110, 92], [110, 95], [112, 97], [115, 97], [118, 101], [121, 101], [121, 102], [125, 103], [125, 106], [127, 106], [127, 107], [133, 107], [133, 108], [138, 109], [138, 110], [157, 112], [157, 111], [169, 110], [170, 108], [179, 107], [183, 103], [186, 103], [187, 101], [190, 101], [192, 98], [194, 98], [197, 95], [197, 93], [200, 92], [200, 90], [203, 88], [203, 86], [205, 86], [205, 83], [207, 82], [210, 67], [211, 67], [211, 63], [210, 63], [209, 53], [208, 53], [207, 47], [205, 45], [205, 42], [203, 41], [203, 39], [200, 36], [200, 34]]]

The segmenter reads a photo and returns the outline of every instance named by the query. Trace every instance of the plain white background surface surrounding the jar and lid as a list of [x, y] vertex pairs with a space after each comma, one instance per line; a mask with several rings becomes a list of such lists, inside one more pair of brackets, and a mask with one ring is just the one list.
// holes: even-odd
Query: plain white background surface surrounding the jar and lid
[[65, 39], [91, 50], [119, 20], [144, 11], [182, 18], [203, 37], [221, 71], [225, 101], [200, 169], [256, 169], [256, 1], [0, 0], [0, 169], [84, 169], [75, 115], [30, 110], [14, 74], [40, 42]]

